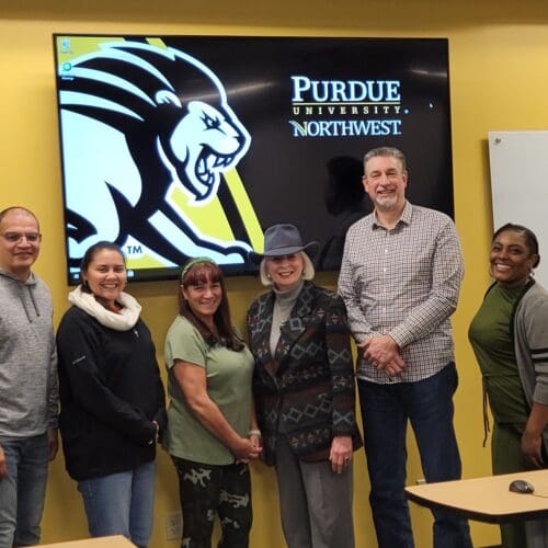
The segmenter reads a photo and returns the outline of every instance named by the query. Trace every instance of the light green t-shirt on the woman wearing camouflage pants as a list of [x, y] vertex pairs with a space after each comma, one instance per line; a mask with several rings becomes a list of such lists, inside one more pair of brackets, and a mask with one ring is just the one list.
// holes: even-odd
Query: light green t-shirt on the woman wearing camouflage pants
[[246, 346], [235, 352], [220, 344], [209, 346], [199, 331], [179, 316], [165, 338], [165, 364], [169, 370], [168, 430], [164, 447], [180, 458], [207, 465], [228, 465], [235, 456], [214, 434], [206, 430], [186, 406], [184, 395], [171, 372], [181, 359], [204, 367], [207, 393], [228, 423], [242, 437], [248, 437], [251, 416], [251, 379], [253, 357]]

